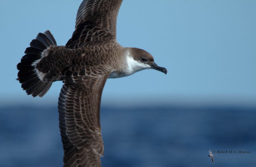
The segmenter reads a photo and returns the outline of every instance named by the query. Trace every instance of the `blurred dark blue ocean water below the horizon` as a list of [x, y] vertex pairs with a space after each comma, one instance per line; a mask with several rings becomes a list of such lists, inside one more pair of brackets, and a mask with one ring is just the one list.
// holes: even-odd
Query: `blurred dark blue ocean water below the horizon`
[[[256, 166], [256, 108], [102, 106], [100, 122], [104, 167]], [[57, 106], [0, 107], [0, 166], [62, 161]]]

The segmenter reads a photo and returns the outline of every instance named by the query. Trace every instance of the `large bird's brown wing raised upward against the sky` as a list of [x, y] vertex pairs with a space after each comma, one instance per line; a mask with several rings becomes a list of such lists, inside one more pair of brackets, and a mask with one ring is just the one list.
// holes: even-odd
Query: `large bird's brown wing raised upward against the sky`
[[116, 40], [116, 19], [122, 0], [84, 0], [77, 11], [76, 30], [68, 48]]

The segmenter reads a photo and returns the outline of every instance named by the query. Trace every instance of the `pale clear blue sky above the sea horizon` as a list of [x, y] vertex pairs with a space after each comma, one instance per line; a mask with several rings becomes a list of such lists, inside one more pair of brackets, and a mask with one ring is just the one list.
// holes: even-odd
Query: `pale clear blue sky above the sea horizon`
[[[49, 29], [58, 45], [74, 31], [81, 1], [24, 0], [0, 2], [2, 103], [58, 100], [61, 82], [44, 98], [20, 88], [16, 65], [40, 32]], [[242, 101], [256, 100], [256, 1], [124, 0], [117, 40], [143, 48], [159, 66], [132, 76], [109, 79], [102, 101]]]

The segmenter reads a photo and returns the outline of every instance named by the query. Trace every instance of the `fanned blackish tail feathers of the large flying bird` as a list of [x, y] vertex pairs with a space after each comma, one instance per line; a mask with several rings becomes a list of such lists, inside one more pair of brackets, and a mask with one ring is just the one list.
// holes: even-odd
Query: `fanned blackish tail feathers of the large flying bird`
[[19, 70], [18, 78], [22, 84], [21, 87], [32, 96], [44, 96], [50, 89], [52, 81], [42, 81], [40, 73], [36, 70], [36, 62], [42, 59], [42, 52], [51, 45], [56, 46], [56, 41], [50, 31], [45, 31], [44, 34], [39, 33], [35, 40], [32, 40], [30, 47], [26, 48], [25, 54], [20, 63], [17, 65]]

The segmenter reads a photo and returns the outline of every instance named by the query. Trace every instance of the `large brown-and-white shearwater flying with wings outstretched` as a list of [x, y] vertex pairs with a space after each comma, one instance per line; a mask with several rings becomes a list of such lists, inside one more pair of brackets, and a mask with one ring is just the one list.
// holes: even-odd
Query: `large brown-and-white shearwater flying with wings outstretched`
[[118, 44], [121, 4], [122, 0], [84, 0], [65, 46], [57, 46], [50, 31], [39, 33], [17, 65], [17, 80], [34, 97], [44, 96], [52, 82], [64, 83], [58, 102], [64, 166], [101, 166], [100, 99], [108, 78], [143, 69], [167, 73], [145, 50]]

